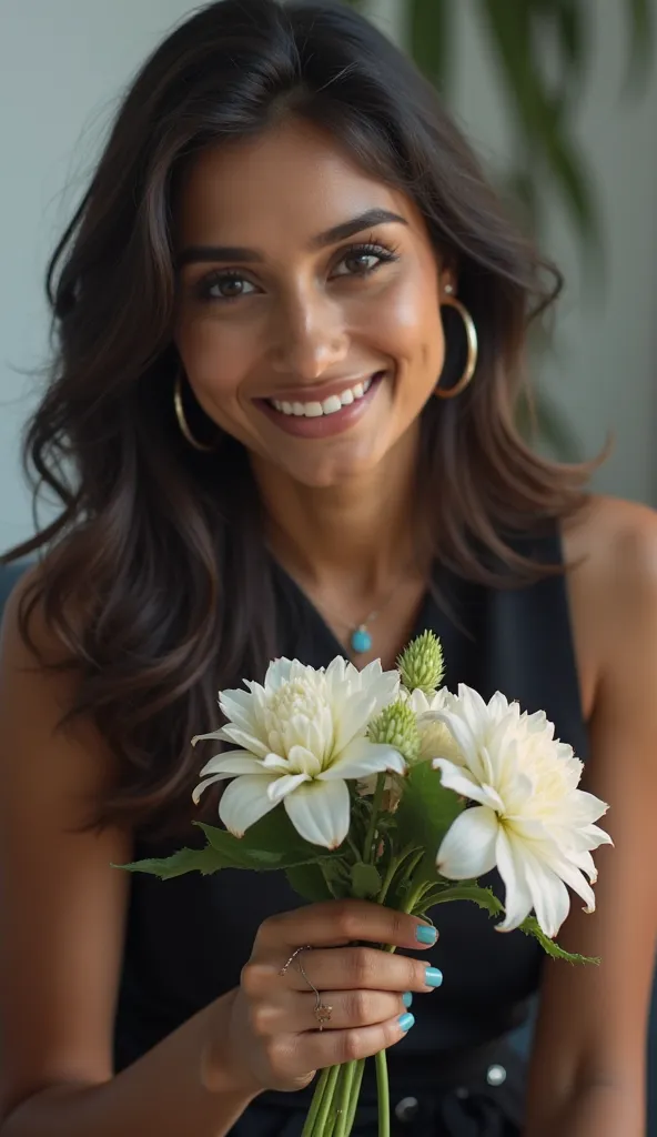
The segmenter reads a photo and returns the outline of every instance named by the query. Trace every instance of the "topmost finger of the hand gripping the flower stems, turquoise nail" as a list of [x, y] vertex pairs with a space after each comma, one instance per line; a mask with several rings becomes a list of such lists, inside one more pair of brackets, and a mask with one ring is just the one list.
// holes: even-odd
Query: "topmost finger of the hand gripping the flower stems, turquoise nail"
[[422, 951], [436, 939], [438, 932], [431, 924], [406, 912], [367, 901], [327, 901], [265, 920], [255, 951], [273, 949], [286, 953], [288, 957], [303, 944], [339, 947], [355, 940]]

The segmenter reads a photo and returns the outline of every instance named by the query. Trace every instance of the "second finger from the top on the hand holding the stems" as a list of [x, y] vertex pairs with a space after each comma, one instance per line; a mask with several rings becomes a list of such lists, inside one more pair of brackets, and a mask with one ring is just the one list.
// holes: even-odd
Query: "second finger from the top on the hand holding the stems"
[[[375, 947], [318, 948], [298, 955], [283, 981], [293, 990], [426, 991], [436, 969], [423, 960], [393, 955]], [[427, 974], [429, 971], [429, 974]]]

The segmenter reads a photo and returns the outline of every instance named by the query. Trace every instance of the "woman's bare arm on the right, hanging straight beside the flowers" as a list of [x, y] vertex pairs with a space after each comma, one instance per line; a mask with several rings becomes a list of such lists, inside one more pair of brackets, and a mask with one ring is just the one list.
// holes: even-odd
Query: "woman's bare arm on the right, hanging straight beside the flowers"
[[591, 757], [615, 848], [596, 854], [597, 912], [559, 940], [599, 968], [547, 966], [526, 1137], [643, 1137], [646, 1036], [657, 939], [657, 516], [601, 499], [567, 539]]

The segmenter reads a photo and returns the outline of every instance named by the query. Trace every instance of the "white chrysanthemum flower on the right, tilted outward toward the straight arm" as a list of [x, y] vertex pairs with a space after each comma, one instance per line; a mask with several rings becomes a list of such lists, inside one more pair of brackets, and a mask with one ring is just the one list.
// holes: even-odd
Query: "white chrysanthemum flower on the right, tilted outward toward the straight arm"
[[499, 691], [486, 705], [461, 684], [458, 698], [434, 712], [456, 744], [438, 755], [442, 785], [479, 803], [465, 810], [438, 852], [438, 869], [452, 880], [482, 877], [496, 865], [506, 886], [506, 919], [517, 928], [535, 911], [556, 936], [569, 910], [568, 885], [596, 907], [591, 850], [612, 839], [594, 822], [605, 802], [577, 789], [582, 763], [555, 739], [544, 713], [521, 714]]

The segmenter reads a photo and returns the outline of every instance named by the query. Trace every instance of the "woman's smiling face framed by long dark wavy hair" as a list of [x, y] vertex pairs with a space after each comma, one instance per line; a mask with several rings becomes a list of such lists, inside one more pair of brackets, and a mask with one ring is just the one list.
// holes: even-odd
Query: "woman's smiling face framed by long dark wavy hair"
[[405, 194], [286, 122], [198, 158], [176, 244], [189, 383], [260, 468], [335, 485], [415, 438], [451, 277]]

